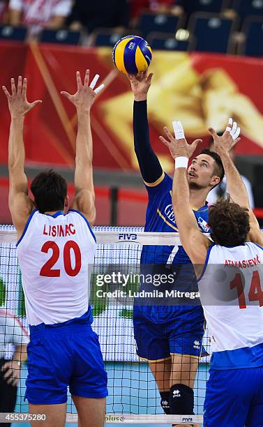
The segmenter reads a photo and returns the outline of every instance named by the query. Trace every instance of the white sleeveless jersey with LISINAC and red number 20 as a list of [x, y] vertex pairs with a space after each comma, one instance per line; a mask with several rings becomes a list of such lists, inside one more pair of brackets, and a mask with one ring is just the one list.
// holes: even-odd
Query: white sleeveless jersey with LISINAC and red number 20
[[66, 322], [87, 312], [95, 249], [91, 227], [80, 212], [31, 213], [17, 242], [29, 324]]

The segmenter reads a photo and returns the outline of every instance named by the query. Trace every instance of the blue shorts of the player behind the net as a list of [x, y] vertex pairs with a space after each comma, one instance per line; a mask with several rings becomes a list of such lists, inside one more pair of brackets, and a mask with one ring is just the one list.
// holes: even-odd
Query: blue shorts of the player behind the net
[[204, 335], [201, 306], [134, 306], [137, 354], [158, 361], [171, 354], [200, 357]]

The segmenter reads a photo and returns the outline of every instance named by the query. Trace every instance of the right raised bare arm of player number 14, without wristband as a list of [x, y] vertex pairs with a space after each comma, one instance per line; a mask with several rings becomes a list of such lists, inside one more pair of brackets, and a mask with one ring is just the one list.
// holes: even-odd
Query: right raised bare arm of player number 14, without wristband
[[233, 202], [248, 209], [250, 218], [249, 239], [250, 241], [263, 246], [263, 235], [260, 231], [257, 218], [255, 217], [253, 210], [250, 208], [246, 186], [244, 185], [243, 180], [241, 179], [240, 174], [230, 156], [231, 150], [240, 140], [240, 128], [237, 126], [236, 122], [233, 123], [232, 119], [230, 118], [225, 133], [223, 133], [221, 137], [216, 134], [216, 131], [213, 128], [209, 128], [209, 132], [213, 137], [215, 149], [220, 155], [225, 169], [227, 188], [230, 192], [230, 197], [232, 198]]

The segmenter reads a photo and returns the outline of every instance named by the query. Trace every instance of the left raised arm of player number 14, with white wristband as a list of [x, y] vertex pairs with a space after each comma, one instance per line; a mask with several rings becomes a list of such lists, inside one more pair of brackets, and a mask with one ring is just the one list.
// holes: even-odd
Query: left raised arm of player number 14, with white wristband
[[193, 144], [188, 144], [183, 134], [181, 122], [176, 122], [175, 137], [172, 136], [168, 128], [165, 127], [164, 130], [167, 140], [164, 137], [160, 137], [160, 140], [170, 149], [170, 153], [175, 160], [172, 207], [181, 244], [193, 264], [204, 264], [206, 252], [211, 241], [201, 232], [193, 210], [190, 208], [189, 186], [186, 175], [188, 159], [192, 156], [201, 140], [195, 140]]

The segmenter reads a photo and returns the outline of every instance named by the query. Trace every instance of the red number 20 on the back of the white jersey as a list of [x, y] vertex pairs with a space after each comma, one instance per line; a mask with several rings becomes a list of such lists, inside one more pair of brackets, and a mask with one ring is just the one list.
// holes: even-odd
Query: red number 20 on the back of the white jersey
[[[40, 269], [40, 276], [45, 277], [59, 277], [61, 270], [53, 269], [54, 264], [59, 260], [59, 246], [54, 241], [46, 241], [41, 248], [41, 252], [48, 253], [49, 250], [52, 250], [52, 255], [47, 262], [43, 265], [42, 269]], [[71, 258], [70, 258], [70, 250], [73, 250], [75, 255], [75, 267], [72, 267]], [[81, 252], [80, 246], [73, 241], [68, 240], [63, 248], [63, 264], [66, 274], [68, 276], [74, 277], [80, 272], [81, 269]]]

